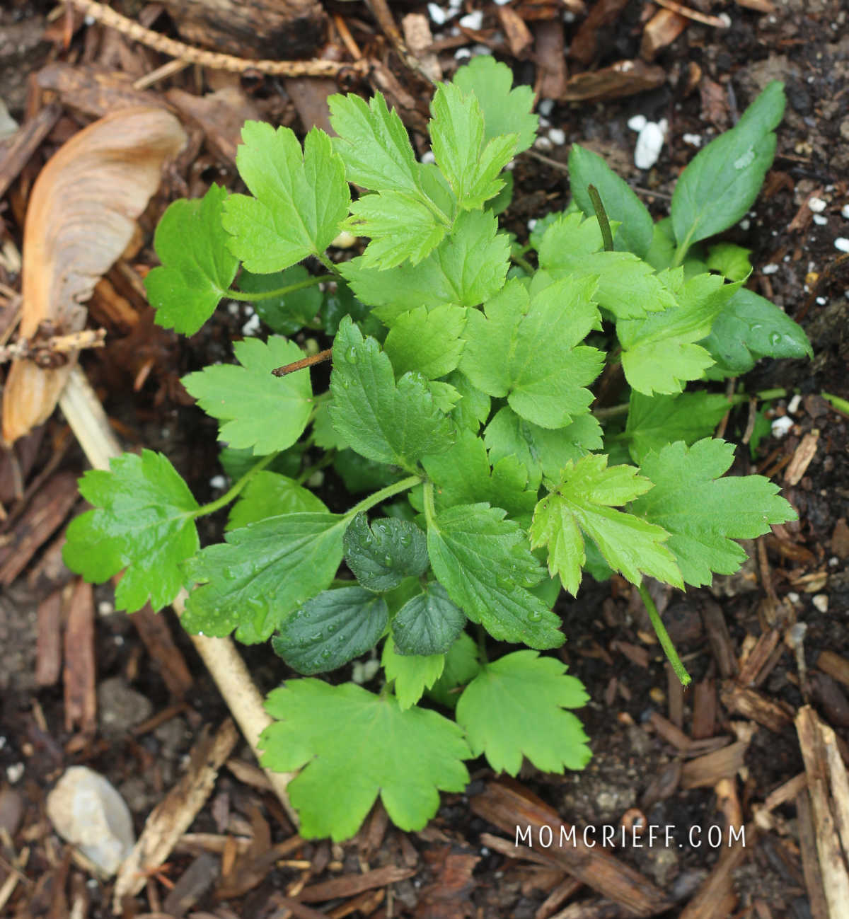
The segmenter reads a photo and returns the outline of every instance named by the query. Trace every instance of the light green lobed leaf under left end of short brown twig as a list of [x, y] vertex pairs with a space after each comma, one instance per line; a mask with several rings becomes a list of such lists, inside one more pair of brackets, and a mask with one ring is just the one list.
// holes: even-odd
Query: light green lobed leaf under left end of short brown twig
[[231, 447], [254, 448], [255, 456], [291, 447], [310, 419], [310, 375], [274, 377], [271, 371], [300, 360], [300, 347], [273, 335], [267, 342], [245, 338], [232, 349], [241, 367], [213, 364], [188, 374], [183, 385], [222, 422], [219, 437]]

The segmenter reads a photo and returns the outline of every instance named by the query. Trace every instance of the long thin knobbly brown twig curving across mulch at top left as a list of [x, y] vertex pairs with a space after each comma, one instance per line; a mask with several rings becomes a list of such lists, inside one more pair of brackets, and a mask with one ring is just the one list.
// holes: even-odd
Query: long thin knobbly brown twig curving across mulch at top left
[[212, 70], [226, 70], [233, 74], [243, 74], [248, 70], [259, 71], [261, 74], [276, 74], [278, 76], [330, 76], [336, 77], [345, 70], [354, 70], [365, 74], [368, 71], [368, 62], [339, 62], [339, 61], [262, 61], [248, 58], [232, 57], [230, 54], [219, 54], [217, 51], [202, 51], [184, 44], [182, 41], [169, 39], [167, 36], [154, 32], [151, 28], [144, 28], [138, 22], [126, 16], [121, 16], [114, 9], [110, 9], [96, 0], [67, 0], [68, 3], [101, 23], [107, 28], [114, 28], [122, 35], [139, 41], [142, 45], [162, 51], [181, 61], [199, 63]]

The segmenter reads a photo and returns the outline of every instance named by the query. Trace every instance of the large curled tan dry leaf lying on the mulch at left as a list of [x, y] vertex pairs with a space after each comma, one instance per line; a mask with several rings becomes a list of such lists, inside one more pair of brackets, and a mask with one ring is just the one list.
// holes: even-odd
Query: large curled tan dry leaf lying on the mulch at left
[[[186, 142], [162, 108], [126, 108], [62, 146], [32, 189], [24, 228], [21, 338], [41, 323], [63, 335], [85, 324], [99, 278], [130, 243], [135, 221], [159, 187], [164, 161]], [[13, 363], [3, 393], [3, 439], [11, 444], [44, 422], [74, 366]]]

